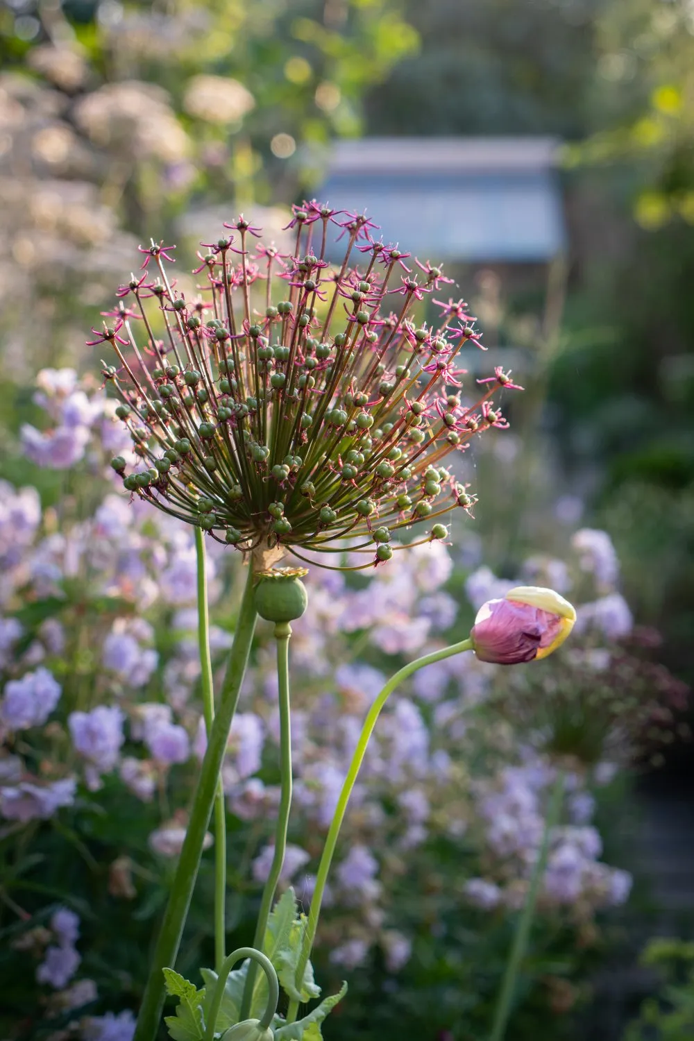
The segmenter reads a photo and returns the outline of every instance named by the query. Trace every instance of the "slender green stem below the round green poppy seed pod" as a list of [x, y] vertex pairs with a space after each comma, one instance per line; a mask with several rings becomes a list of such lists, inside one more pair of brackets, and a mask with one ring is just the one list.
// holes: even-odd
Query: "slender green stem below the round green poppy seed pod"
[[[284, 854], [287, 847], [287, 831], [289, 828], [289, 811], [291, 809], [291, 717], [289, 705], [289, 637], [291, 627], [288, 623], [278, 623], [275, 626], [275, 639], [277, 641], [277, 679], [279, 686], [280, 705], [280, 775], [282, 789], [280, 796], [280, 808], [277, 816], [277, 827], [275, 830], [275, 853], [271, 865], [269, 874], [265, 882], [258, 912], [255, 937], [253, 945], [262, 950], [265, 942], [265, 931], [267, 919], [277, 892], [277, 885], [282, 873], [284, 864]], [[255, 964], [249, 966], [249, 973], [243, 987], [243, 998], [241, 1000], [241, 1019], [246, 1019], [253, 1005], [253, 990], [255, 987], [257, 967]]]

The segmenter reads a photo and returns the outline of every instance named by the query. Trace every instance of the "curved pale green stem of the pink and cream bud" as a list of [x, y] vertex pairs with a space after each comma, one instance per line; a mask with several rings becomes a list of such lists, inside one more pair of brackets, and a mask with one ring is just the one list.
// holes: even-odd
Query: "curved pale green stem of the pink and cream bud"
[[[364, 755], [366, 754], [370, 736], [374, 733], [374, 728], [376, 727], [376, 722], [381, 714], [383, 706], [403, 680], [407, 680], [408, 677], [412, 676], [413, 672], [418, 671], [420, 668], [423, 668], [425, 665], [433, 665], [436, 661], [442, 661], [444, 658], [449, 658], [452, 655], [461, 654], [463, 651], [471, 650], [472, 641], [470, 639], [466, 639], [461, 640], [460, 643], [452, 643], [451, 646], [443, 648], [440, 651], [433, 651], [431, 654], [423, 655], [421, 658], [416, 658], [414, 661], [409, 662], [390, 677], [385, 687], [366, 713], [366, 718], [364, 719], [359, 740], [357, 741], [357, 747], [352, 756], [350, 769], [348, 770], [348, 776], [344, 779], [344, 784], [342, 785], [342, 790], [340, 791], [340, 796], [337, 801], [335, 813], [328, 830], [326, 844], [323, 848], [320, 863], [318, 864], [318, 871], [315, 877], [315, 887], [313, 889], [313, 895], [311, 896], [311, 910], [309, 912], [308, 922], [304, 932], [301, 957], [297, 964], [295, 986], [299, 990], [301, 990], [303, 986], [304, 972], [306, 971], [308, 960], [311, 957], [311, 949], [313, 947], [313, 941], [315, 940], [315, 932], [318, 926], [320, 905], [323, 904], [323, 895], [326, 889], [326, 882], [328, 881], [328, 872], [330, 871], [330, 867], [333, 862], [335, 846], [337, 845], [337, 839], [340, 833], [340, 828], [342, 827], [342, 820], [344, 819], [348, 803], [350, 802], [350, 795], [352, 794], [352, 789], [354, 788], [357, 777], [359, 776], [359, 770], [361, 769], [361, 764], [364, 760]], [[294, 1021], [298, 1008], [299, 1006], [297, 1001], [290, 1002], [287, 1010], [286, 1021], [288, 1023], [292, 1023]]]

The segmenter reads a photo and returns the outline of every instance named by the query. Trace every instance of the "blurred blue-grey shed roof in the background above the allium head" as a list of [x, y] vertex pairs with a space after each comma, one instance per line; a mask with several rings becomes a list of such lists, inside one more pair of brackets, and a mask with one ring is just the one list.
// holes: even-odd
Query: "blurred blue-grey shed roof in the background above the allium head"
[[422, 259], [546, 261], [565, 243], [550, 146], [544, 138], [343, 142], [319, 195], [366, 212], [380, 226], [377, 237]]

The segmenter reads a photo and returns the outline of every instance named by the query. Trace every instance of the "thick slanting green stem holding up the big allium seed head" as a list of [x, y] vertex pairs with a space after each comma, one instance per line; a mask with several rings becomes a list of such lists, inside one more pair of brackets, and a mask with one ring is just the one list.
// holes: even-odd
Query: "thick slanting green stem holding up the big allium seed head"
[[253, 593], [253, 565], [251, 565], [236, 621], [236, 632], [229, 655], [227, 674], [222, 685], [219, 710], [212, 723], [207, 751], [200, 768], [198, 786], [190, 810], [190, 820], [178, 860], [169, 904], [161, 922], [133, 1041], [154, 1041], [159, 1029], [164, 1002], [164, 980], [161, 970], [170, 966], [173, 967], [176, 962], [198, 877], [203, 842], [212, 813], [222, 761], [227, 748], [229, 731], [238, 703], [238, 692], [246, 675], [251, 643], [253, 642], [257, 617]]

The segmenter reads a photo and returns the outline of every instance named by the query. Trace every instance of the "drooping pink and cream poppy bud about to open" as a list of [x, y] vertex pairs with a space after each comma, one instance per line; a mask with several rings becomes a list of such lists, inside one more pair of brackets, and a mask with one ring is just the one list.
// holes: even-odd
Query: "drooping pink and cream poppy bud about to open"
[[496, 665], [546, 658], [573, 629], [576, 612], [554, 589], [516, 586], [478, 611], [470, 639], [481, 661]]

